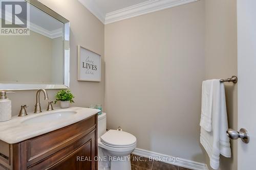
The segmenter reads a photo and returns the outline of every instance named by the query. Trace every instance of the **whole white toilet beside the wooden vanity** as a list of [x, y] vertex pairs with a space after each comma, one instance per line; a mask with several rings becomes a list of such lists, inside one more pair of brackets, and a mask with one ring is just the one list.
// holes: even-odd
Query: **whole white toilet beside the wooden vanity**
[[118, 130], [106, 131], [106, 113], [98, 116], [98, 169], [131, 170], [130, 154], [136, 137]]

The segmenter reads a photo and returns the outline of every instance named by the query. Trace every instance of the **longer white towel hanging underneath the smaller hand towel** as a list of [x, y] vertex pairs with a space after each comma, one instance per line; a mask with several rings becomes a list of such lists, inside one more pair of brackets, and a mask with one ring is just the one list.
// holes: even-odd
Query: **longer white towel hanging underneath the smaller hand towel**
[[228, 122], [224, 84], [214, 81], [213, 91], [212, 130], [211, 132], [207, 132], [201, 127], [200, 142], [209, 155], [210, 166], [218, 169], [220, 154], [225, 157], [231, 157], [231, 149], [229, 138], [226, 135]]

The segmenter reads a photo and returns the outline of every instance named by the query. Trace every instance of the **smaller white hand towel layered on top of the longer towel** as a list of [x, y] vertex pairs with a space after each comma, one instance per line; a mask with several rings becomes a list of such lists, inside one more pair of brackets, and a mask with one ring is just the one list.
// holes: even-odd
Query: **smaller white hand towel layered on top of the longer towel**
[[200, 126], [206, 131], [211, 131], [212, 99], [214, 98], [213, 84], [218, 80], [206, 80], [202, 83], [202, 106]]

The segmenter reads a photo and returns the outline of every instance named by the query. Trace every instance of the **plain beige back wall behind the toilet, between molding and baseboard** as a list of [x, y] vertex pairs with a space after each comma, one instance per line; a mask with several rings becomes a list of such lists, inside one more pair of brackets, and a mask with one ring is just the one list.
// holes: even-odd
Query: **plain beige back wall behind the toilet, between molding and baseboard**
[[105, 26], [108, 128], [131, 132], [138, 148], [205, 162], [204, 22], [198, 1]]

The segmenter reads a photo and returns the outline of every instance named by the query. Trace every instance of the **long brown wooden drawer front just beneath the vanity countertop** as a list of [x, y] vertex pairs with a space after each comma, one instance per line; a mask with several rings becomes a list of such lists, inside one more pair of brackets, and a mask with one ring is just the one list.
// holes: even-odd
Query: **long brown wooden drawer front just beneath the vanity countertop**
[[95, 116], [92, 116], [73, 125], [29, 139], [27, 141], [28, 161], [52, 150], [61, 149], [61, 145], [69, 144], [69, 141], [72, 141], [72, 139], [90, 133], [96, 126]]

